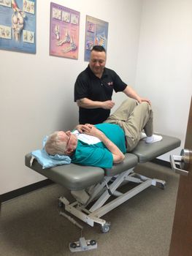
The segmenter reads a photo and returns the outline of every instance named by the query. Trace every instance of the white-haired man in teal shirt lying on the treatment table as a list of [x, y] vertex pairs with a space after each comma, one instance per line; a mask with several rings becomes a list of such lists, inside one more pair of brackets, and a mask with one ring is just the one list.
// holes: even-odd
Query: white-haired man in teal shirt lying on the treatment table
[[79, 165], [111, 168], [137, 146], [143, 129], [146, 143], [162, 140], [160, 135], [153, 135], [151, 106], [126, 99], [102, 124], [78, 124], [72, 132], [54, 132], [47, 139], [45, 151], [67, 155]]

